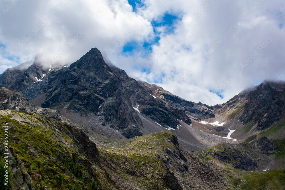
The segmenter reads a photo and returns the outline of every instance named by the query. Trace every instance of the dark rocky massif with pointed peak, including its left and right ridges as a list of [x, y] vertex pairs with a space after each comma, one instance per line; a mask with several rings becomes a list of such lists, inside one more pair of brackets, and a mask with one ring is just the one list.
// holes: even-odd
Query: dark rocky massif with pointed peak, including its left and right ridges
[[168, 99], [154, 98], [145, 85], [140, 85], [125, 71], [112, 64], [108, 66], [97, 48], [58, 70], [43, 70], [35, 61], [14, 79], [17, 85], [13, 88], [5, 83], [10, 70], [0, 76], [1, 86], [23, 92], [32, 102], [40, 99], [37, 105], [42, 107], [96, 117], [99, 124], [120, 131], [126, 138], [143, 134], [143, 123], [134, 108], [160, 126], [173, 129], [179, 126], [178, 120], [190, 125], [191, 114], [198, 118], [214, 116], [206, 107], [173, 95], [181, 102], [176, 105], [170, 93], [164, 93]]

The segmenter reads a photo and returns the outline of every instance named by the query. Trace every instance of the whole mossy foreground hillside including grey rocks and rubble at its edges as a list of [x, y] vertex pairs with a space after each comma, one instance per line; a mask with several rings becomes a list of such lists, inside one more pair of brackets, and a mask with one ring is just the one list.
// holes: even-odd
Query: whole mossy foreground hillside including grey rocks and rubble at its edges
[[[176, 190], [227, 186], [218, 169], [184, 153], [171, 132], [113, 140], [107, 145], [102, 139], [98, 148], [80, 129], [82, 126], [58, 112], [45, 109], [39, 113], [44, 109], [5, 88], [1, 88], [0, 98], [8, 99], [0, 117], [1, 124], [9, 126], [9, 179], [13, 189]], [[4, 133], [4, 128], [0, 130]], [[1, 138], [1, 156], [3, 141]], [[183, 183], [184, 179], [189, 182]]]

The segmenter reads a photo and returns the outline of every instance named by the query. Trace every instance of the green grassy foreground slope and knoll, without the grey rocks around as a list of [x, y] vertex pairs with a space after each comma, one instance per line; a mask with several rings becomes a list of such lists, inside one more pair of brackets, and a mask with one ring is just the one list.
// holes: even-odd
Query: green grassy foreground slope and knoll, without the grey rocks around
[[[9, 148], [23, 163], [36, 190], [47, 186], [72, 190], [179, 189], [169, 169], [174, 171], [181, 161], [165, 152], [177, 149], [168, 140], [171, 132], [121, 141], [109, 139], [111, 146], [117, 146], [97, 150], [76, 126], [44, 115], [5, 110], [0, 111], [0, 120], [1, 125], [9, 123]], [[3, 127], [0, 134], [4, 134]], [[167, 168], [158, 159], [166, 155], [173, 167]]]

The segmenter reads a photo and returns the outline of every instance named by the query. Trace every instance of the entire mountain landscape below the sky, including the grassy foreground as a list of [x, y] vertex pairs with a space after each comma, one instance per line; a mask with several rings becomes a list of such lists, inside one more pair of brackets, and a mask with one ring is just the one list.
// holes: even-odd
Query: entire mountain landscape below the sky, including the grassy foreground
[[285, 82], [208, 106], [129, 77], [93, 48], [70, 66], [10, 68], [0, 86], [13, 189], [285, 187]]

